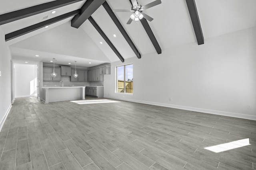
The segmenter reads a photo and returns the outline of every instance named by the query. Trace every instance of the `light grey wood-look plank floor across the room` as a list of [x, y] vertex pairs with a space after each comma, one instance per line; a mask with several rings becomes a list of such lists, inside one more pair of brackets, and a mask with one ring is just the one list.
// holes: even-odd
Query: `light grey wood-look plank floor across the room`
[[[247, 138], [246, 147], [204, 149]], [[0, 170], [252, 170], [256, 121], [124, 101], [16, 98], [0, 154]]]

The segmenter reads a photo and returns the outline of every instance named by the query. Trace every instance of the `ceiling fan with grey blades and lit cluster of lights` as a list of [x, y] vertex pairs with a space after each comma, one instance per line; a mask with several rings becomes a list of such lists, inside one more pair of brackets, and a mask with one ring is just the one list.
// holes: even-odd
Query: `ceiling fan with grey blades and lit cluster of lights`
[[161, 0], [156, 0], [142, 6], [141, 4], [138, 4], [137, 0], [131, 0], [131, 2], [132, 2], [132, 10], [113, 10], [114, 12], [133, 12], [127, 24], [132, 23], [132, 20], [138, 21], [138, 20], [141, 20], [142, 18], [145, 18], [148, 21], [154, 20], [152, 17], [145, 14], [143, 10], [146, 10], [148, 8], [151, 8], [153, 6], [156, 6], [162, 3]]

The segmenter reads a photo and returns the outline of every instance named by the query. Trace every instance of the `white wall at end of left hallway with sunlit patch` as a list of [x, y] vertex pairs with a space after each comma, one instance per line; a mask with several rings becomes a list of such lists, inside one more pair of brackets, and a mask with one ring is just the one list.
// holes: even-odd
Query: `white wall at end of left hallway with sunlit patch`
[[14, 65], [15, 98], [37, 95], [37, 66], [30, 64]]

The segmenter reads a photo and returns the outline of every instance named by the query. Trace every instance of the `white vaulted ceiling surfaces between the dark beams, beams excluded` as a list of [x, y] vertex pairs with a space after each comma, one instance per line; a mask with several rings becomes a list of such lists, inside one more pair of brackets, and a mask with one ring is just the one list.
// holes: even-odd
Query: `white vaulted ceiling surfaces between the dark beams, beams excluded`
[[[27, 8], [52, 0], [12, 0], [1, 2], [0, 14]], [[0, 25], [4, 33], [10, 33], [35, 23], [42, 22], [44, 16], [48, 19], [80, 9], [86, 0], [70, 4], [51, 11], [30, 16], [21, 20]], [[138, 0], [145, 5], [154, 0]], [[129, 0], [107, 0], [112, 9], [130, 10]], [[204, 39], [223, 35], [226, 33], [256, 26], [256, 0], [195, 0]], [[186, 0], [162, 0], [162, 4], [144, 10], [146, 14], [154, 18], [148, 22], [162, 51], [186, 43], [195, 43], [196, 37], [186, 6]], [[130, 12], [115, 12], [124, 29], [143, 55], [156, 53], [142, 24], [132, 21], [126, 22]], [[92, 14], [92, 18], [98, 23], [116, 49], [124, 59], [136, 57], [110, 16], [103, 6]], [[35, 64], [38, 61], [50, 63], [56, 58], [56, 64], [68, 65], [77, 61], [77, 66], [92, 67], [98, 64], [119, 61], [116, 54], [104, 41], [101, 35], [86, 20], [78, 29], [71, 27], [72, 17], [59, 21], [48, 28], [41, 28], [26, 35], [22, 35], [6, 43], [10, 47], [15, 63], [29, 62]], [[113, 37], [116, 34], [117, 37]], [[100, 41], [103, 44], [100, 44]], [[35, 57], [40, 55], [40, 57]], [[157, 55], [157, 53], [156, 53]], [[91, 64], [89, 64], [89, 62]], [[25, 63], [24, 63], [25, 64]]]

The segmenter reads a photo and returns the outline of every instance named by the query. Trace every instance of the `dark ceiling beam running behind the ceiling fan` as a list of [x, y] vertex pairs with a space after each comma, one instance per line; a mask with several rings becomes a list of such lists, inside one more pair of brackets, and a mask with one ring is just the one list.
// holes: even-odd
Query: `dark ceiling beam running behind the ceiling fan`
[[[132, 1], [131, 0], [129, 0], [129, 1], [132, 4]], [[158, 42], [156, 40], [156, 37], [155, 37], [152, 29], [150, 28], [149, 24], [148, 24], [148, 21], [145, 18], [142, 18], [140, 20], [140, 22], [142, 23], [142, 26], [144, 27], [146, 33], [148, 34], [149, 39], [151, 40], [152, 44], [154, 45], [154, 47], [156, 49], [156, 52], [158, 54], [161, 54], [162, 49], [161, 49], [160, 45], [158, 44]]]

